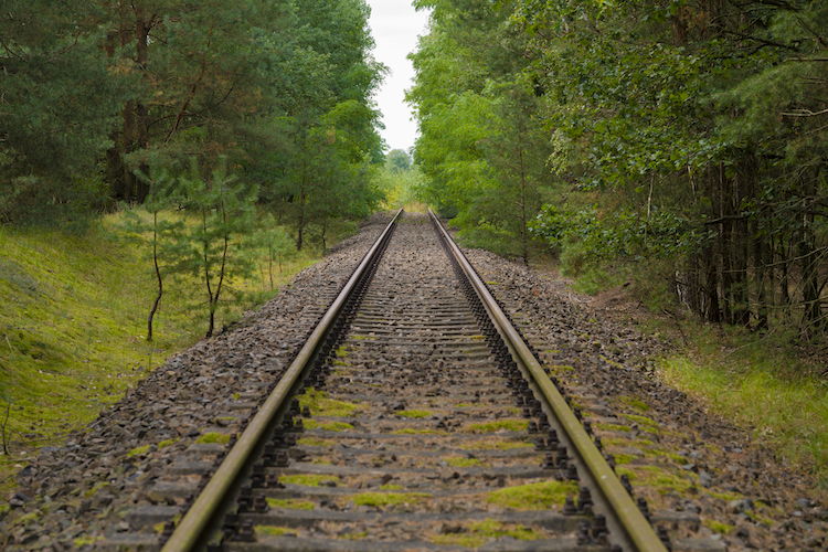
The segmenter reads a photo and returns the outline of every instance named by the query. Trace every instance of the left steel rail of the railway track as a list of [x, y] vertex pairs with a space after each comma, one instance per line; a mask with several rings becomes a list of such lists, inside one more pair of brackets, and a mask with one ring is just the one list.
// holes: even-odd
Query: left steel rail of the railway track
[[279, 383], [259, 406], [258, 412], [247, 424], [238, 440], [222, 461], [208, 485], [187, 511], [170, 539], [164, 543], [161, 552], [190, 552], [208, 544], [208, 539], [219, 529], [219, 521], [224, 509], [237, 487], [238, 481], [251, 467], [251, 456], [254, 455], [269, 437], [283, 405], [293, 396], [294, 388], [300, 383], [300, 376], [306, 367], [316, 359], [319, 349], [337, 321], [342, 308], [347, 305], [360, 278], [374, 261], [374, 256], [388, 240], [402, 213], [396, 212], [392, 221], [385, 226], [380, 237], [363, 257], [353, 272], [342, 291], [337, 296], [327, 312], [311, 332], [308, 340], [297, 353], [290, 367], [279, 380]]

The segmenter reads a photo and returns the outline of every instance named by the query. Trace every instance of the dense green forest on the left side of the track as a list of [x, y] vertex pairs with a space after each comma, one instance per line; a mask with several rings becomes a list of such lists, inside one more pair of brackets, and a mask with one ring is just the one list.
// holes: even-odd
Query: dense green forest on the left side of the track
[[220, 188], [215, 170], [298, 248], [363, 216], [386, 71], [368, 15], [362, 0], [3, 2], [0, 222], [148, 199], [198, 211], [183, 181]]

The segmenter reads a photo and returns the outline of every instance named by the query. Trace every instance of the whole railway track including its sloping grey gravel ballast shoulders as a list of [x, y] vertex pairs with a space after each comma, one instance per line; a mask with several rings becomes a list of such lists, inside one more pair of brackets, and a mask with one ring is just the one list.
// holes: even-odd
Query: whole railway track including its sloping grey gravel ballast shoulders
[[[720, 457], [735, 474], [742, 449], [679, 431], [673, 411], [705, 422], [669, 390], [652, 403], [664, 415], [633, 400], [662, 393], [629, 378], [626, 333], [598, 350], [566, 305], [529, 312], [520, 274], [482, 263], [501, 280], [484, 284], [435, 220], [373, 234], [388, 240], [361, 242], [361, 262], [333, 254], [44, 452], [20, 477], [20, 497], [39, 498], [0, 510], [0, 548], [678, 552], [755, 538], [730, 493], [778, 479], [704, 475]], [[756, 510], [782, 503], [762, 492]], [[820, 512], [774, 529], [786, 544], [769, 550], [819, 549]], [[713, 523], [743, 524], [723, 539]]]

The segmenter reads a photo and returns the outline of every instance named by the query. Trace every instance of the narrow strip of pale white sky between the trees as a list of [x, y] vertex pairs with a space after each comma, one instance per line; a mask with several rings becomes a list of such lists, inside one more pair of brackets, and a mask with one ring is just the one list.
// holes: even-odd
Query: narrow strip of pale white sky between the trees
[[374, 100], [382, 112], [385, 129], [380, 135], [389, 149], [408, 151], [414, 146], [417, 125], [405, 103], [405, 89], [411, 88], [414, 66], [406, 55], [417, 46], [417, 35], [427, 33], [428, 14], [414, 11], [411, 0], [367, 0], [371, 8], [371, 34], [376, 47], [374, 59], [391, 70]]

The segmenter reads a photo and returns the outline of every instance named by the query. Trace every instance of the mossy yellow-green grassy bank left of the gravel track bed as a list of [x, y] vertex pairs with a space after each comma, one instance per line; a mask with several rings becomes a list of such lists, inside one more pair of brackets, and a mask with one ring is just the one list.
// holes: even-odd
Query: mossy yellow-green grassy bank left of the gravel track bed
[[[0, 227], [0, 426], [10, 453], [0, 443], [0, 495], [38, 448], [83, 428], [206, 330], [202, 284], [167, 278], [147, 342], [152, 265], [125, 238], [124, 220], [107, 215], [82, 235]], [[275, 295], [264, 255], [261, 274], [227, 288], [219, 329]], [[309, 250], [284, 263], [276, 287], [318, 258]]]

